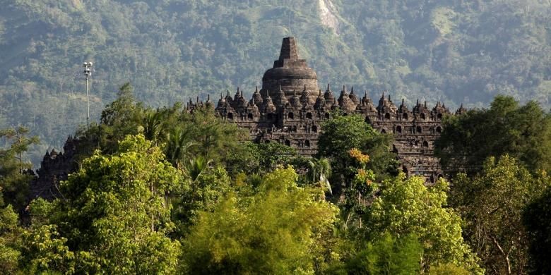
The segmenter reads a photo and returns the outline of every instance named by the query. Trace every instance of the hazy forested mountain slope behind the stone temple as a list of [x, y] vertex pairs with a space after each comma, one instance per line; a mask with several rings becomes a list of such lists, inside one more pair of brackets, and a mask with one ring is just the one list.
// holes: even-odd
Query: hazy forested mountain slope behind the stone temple
[[152, 106], [251, 93], [292, 35], [324, 85], [406, 102], [483, 106], [496, 94], [551, 106], [549, 0], [2, 0], [0, 128], [60, 147], [131, 82]]

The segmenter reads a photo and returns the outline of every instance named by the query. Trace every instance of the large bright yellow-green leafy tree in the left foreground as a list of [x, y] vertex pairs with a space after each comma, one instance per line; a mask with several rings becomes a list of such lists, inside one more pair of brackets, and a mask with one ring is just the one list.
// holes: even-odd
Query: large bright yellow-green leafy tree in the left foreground
[[[66, 245], [76, 273], [172, 273], [179, 243], [166, 237], [174, 228], [167, 194], [184, 183], [182, 175], [143, 135], [127, 136], [117, 148], [112, 155], [98, 151], [85, 159], [61, 183], [63, 199], [52, 207], [35, 204], [51, 217], [30, 238], [38, 238], [38, 247]], [[51, 257], [37, 252], [27, 258], [32, 263]]]

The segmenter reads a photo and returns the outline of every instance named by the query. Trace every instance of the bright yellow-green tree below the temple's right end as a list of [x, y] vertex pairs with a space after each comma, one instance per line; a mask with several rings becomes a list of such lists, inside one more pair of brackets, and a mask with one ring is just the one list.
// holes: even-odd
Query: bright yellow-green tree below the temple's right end
[[446, 207], [448, 183], [438, 181], [427, 188], [425, 179], [405, 178], [403, 173], [381, 183], [380, 195], [365, 215], [368, 240], [378, 240], [384, 233], [392, 236], [414, 234], [423, 248], [422, 271], [437, 264], [452, 263], [474, 274], [482, 274], [461, 236], [461, 217]]

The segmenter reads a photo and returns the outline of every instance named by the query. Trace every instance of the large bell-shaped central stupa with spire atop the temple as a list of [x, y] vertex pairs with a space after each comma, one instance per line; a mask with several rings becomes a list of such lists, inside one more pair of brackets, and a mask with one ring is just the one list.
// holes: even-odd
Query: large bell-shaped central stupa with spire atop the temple
[[267, 91], [270, 97], [275, 97], [280, 87], [286, 97], [295, 92], [301, 94], [304, 87], [311, 97], [319, 90], [316, 72], [307, 66], [305, 59], [299, 58], [295, 37], [283, 38], [279, 59], [273, 61], [273, 68], [262, 77], [261, 94]]

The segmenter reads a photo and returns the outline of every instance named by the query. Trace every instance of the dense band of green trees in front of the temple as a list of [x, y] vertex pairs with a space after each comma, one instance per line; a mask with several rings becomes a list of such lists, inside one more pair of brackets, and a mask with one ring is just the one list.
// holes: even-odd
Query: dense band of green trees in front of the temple
[[28, 200], [37, 137], [0, 131], [1, 274], [551, 272], [551, 114], [535, 102], [444, 118], [443, 164], [470, 169], [427, 186], [362, 116], [333, 112], [304, 158], [212, 110], [117, 94], [76, 134], [79, 168], [53, 201]]

